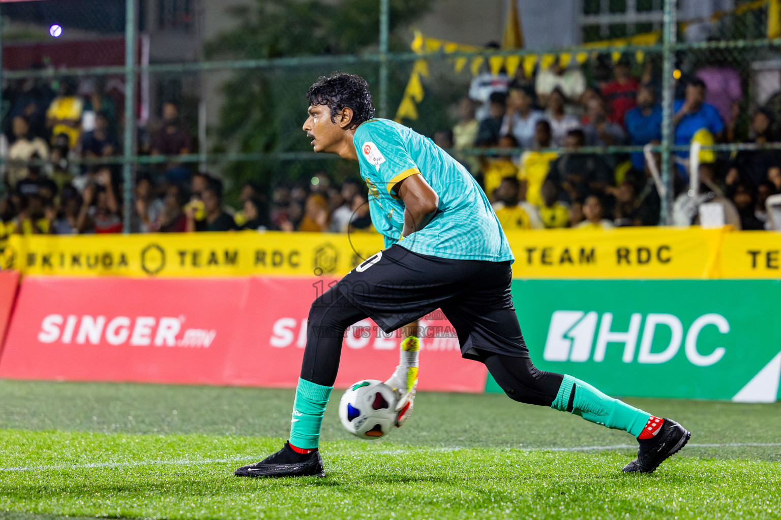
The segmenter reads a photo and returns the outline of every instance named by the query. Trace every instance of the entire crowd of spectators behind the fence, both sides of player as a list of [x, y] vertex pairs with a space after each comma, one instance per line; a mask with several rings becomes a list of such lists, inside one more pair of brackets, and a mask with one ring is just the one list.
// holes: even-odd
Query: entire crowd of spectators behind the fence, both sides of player
[[[558, 62], [530, 77], [523, 67], [512, 78], [486, 69], [454, 107], [455, 125], [433, 140], [479, 180], [505, 229], [657, 225], [661, 200], [647, 157], [599, 150], [660, 142], [661, 86], [651, 71], [647, 62], [635, 77], [622, 59], [603, 63], [589, 82], [578, 65]], [[704, 67], [681, 80], [676, 91], [676, 145], [777, 140], [781, 94], [750, 117], [742, 115], [746, 103], [734, 69]], [[30, 79], [9, 84], [3, 99], [10, 109], [0, 133], [5, 157], [0, 242], [12, 233], [120, 232], [121, 167], [101, 158], [122, 150], [121, 85], [65, 78], [53, 86]], [[743, 131], [741, 118], [750, 119]], [[194, 152], [191, 133], [171, 101], [148, 128], [139, 129], [136, 141], [140, 154]], [[480, 148], [494, 151], [464, 151]], [[685, 197], [688, 152], [675, 156], [676, 196]], [[658, 154], [653, 157], [659, 168]], [[74, 158], [92, 162], [73, 164]], [[706, 150], [699, 159], [701, 191], [726, 205], [727, 223], [768, 228], [765, 200], [781, 193], [781, 155], [769, 149]], [[134, 232], [373, 230], [360, 179], [337, 184], [327, 172], [269, 192], [246, 182], [235, 208], [223, 204], [223, 182], [216, 176], [175, 160], [136, 168], [132, 188]]]

